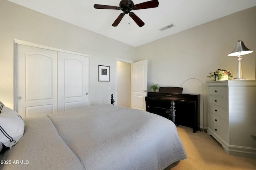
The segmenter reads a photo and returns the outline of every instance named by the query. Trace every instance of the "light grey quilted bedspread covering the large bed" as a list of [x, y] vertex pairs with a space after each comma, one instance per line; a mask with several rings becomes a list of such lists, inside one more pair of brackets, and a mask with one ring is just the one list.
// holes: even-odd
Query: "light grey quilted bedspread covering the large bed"
[[0, 170], [163, 170], [187, 155], [172, 121], [105, 104], [24, 118], [0, 158]]

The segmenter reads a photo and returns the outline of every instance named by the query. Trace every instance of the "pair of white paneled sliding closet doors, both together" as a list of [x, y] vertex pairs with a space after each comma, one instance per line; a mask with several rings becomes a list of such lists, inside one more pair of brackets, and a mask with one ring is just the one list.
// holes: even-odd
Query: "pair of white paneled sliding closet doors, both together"
[[16, 111], [22, 117], [89, 106], [89, 57], [16, 44]]

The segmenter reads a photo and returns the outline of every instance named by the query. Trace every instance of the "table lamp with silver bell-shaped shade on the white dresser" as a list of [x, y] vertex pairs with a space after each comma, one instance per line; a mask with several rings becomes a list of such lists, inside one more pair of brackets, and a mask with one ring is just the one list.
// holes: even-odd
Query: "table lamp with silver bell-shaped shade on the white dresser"
[[228, 55], [228, 56], [237, 56], [236, 59], [238, 60], [237, 73], [236, 73], [236, 78], [234, 78], [234, 80], [246, 80], [246, 78], [243, 78], [243, 74], [242, 74], [242, 65], [241, 65], [242, 56], [241, 55], [250, 54], [252, 52], [253, 52], [252, 50], [245, 47], [244, 42], [242, 40], [238, 40], [238, 43], [236, 44], [235, 49]]

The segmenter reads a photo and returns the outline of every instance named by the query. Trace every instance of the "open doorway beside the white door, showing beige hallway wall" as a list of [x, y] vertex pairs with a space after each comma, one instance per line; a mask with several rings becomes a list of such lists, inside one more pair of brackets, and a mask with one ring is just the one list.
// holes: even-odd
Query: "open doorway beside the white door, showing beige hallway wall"
[[132, 63], [117, 61], [117, 105], [131, 108]]

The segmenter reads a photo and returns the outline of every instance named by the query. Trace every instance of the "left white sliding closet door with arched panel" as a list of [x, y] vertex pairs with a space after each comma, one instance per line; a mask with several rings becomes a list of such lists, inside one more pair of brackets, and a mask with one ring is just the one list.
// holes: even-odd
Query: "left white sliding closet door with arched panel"
[[58, 111], [58, 52], [16, 44], [16, 111], [22, 117]]

